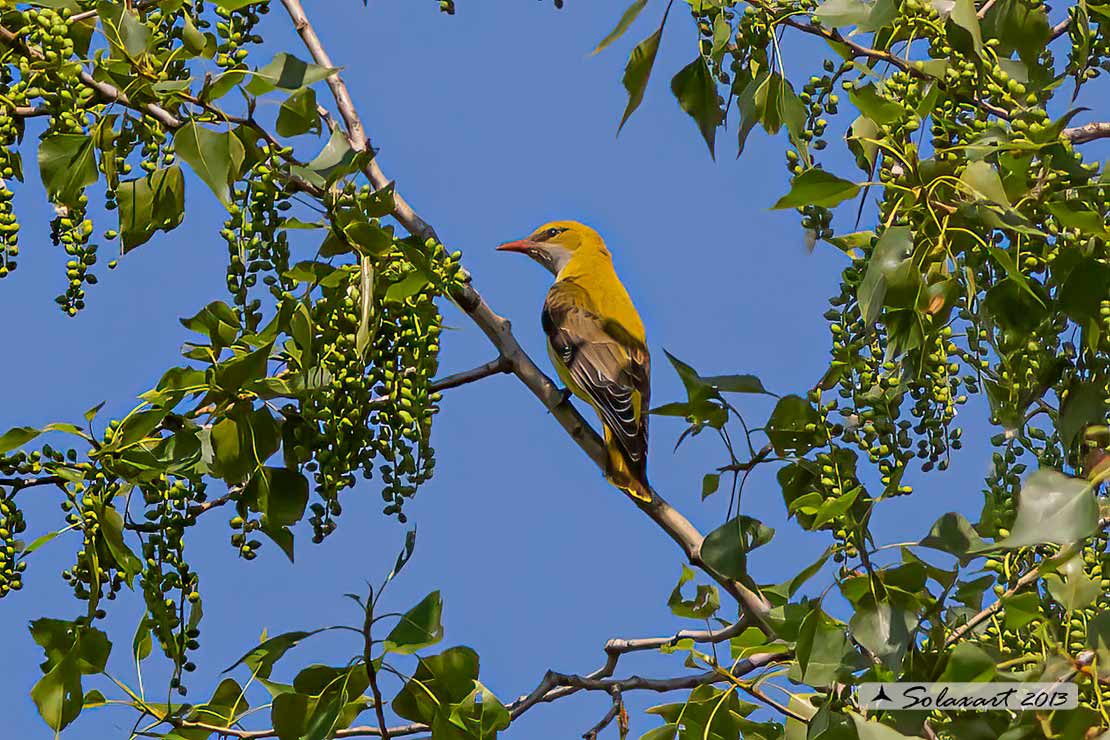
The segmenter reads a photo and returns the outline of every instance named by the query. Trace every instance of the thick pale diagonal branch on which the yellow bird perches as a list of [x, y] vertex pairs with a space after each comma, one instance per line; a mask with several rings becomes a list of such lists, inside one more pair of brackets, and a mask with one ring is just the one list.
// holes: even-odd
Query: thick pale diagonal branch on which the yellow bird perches
[[[320, 38], [313, 30], [300, 0], [282, 0], [282, 4], [285, 6], [297, 34], [300, 34], [309, 52], [312, 54], [313, 61], [324, 67], [334, 68], [335, 64], [332, 63]], [[354, 102], [351, 100], [351, 94], [342, 77], [339, 74], [329, 77], [327, 84], [335, 98], [340, 115], [346, 125], [347, 139], [351, 146], [359, 151], [370, 151], [370, 141], [366, 138], [365, 128], [354, 108]], [[390, 182], [377, 166], [376, 160], [372, 159], [370, 161], [364, 173], [374, 187], [384, 187]], [[424, 239], [435, 237], [435, 231], [432, 226], [416, 215], [408, 203], [396, 192], [394, 192], [394, 204], [393, 215], [410, 233]], [[543, 403], [578, 447], [604, 470], [606, 454], [602, 438], [586, 424], [578, 410], [566, 402], [563, 392], [551, 378], [544, 375], [539, 367], [524, 352], [516, 337], [513, 336], [508, 320], [494, 313], [482, 295], [474, 290], [473, 285], [466, 284], [462, 286], [452, 297], [485, 333], [490, 342], [500, 352], [500, 356], [512, 364], [513, 374]], [[765, 632], [773, 633], [774, 630], [771, 630], [766, 621], [769, 605], [744, 584], [716, 572], [702, 560], [702, 541], [704, 537], [685, 516], [679, 514], [662, 496], [654, 491], [650, 501], [633, 500], [635, 500], [636, 506], [642, 511], [650, 517], [653, 521], [682, 547], [692, 565], [709, 575], [739, 601], [744, 608], [746, 618], [754, 620]]]

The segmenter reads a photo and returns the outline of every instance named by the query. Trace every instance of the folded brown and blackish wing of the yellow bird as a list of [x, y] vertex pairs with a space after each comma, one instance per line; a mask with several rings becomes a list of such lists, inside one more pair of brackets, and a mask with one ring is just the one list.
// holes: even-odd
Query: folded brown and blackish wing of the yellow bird
[[586, 393], [643, 475], [647, 464], [650, 359], [643, 342], [614, 320], [592, 311], [589, 296], [569, 281], [556, 283], [544, 302], [543, 325], [571, 378]]

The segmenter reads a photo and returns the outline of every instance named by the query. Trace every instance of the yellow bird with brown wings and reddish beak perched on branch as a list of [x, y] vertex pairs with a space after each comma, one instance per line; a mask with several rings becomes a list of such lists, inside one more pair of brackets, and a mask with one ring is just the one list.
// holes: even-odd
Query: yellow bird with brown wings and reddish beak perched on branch
[[553, 221], [506, 242], [555, 275], [541, 324], [559, 379], [597, 413], [605, 433], [605, 477], [640, 501], [647, 481], [652, 361], [644, 322], [601, 234], [577, 221]]

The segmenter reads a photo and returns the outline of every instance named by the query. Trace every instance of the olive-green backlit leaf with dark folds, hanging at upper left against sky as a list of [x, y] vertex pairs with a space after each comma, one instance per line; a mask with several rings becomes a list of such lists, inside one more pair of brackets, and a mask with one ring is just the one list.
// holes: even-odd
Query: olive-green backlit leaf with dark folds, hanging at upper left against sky
[[185, 180], [176, 164], [145, 178], [127, 180], [117, 191], [123, 253], [145, 244], [159, 231], [172, 231], [185, 217]]

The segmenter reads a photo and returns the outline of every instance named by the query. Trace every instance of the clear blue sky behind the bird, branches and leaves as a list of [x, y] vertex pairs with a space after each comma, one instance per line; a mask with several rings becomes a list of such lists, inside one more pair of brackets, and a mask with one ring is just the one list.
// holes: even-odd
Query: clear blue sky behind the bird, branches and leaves
[[[303, 57], [274, 6], [265, 26], [270, 51]], [[332, 58], [345, 68], [383, 168], [444, 241], [463, 250], [477, 288], [512, 318], [543, 366], [538, 314], [548, 276], [493, 247], [547, 220], [574, 217], [606, 237], [644, 315], [657, 402], [680, 395], [664, 347], [707, 374], [756, 373], [780, 393], [813, 384], [827, 356], [820, 314], [844, 259], [827, 245], [807, 254], [796, 214], [768, 210], [787, 185], [781, 141], [756, 132], [735, 161], [729, 131], [722, 134], [718, 161], [709, 159], [667, 89], [694, 53], [695, 31], [683, 3], [676, 3], [644, 105], [619, 139], [620, 72], [632, 43], [657, 23], [660, 3], [652, 3], [625, 39], [596, 58], [588, 52], [624, 3], [571, 0], [556, 11], [549, 2], [461, 0], [453, 18], [440, 14], [434, 0], [372, 0], [366, 9], [356, 0], [306, 6]], [[788, 72], [809, 73], [813, 48], [787, 44], [786, 54]], [[260, 54], [255, 61], [268, 59]], [[0, 426], [80, 419], [102, 399], [114, 413], [125, 412], [135, 394], [180, 362], [188, 333], [178, 317], [224, 296], [225, 252], [218, 235], [223, 216], [208, 190], [190, 180], [184, 225], [128, 255], [118, 271], [101, 270], [88, 310], [68, 320], [51, 301], [65, 257], [49, 243], [33, 154], [28, 162], [29, 182], [17, 194], [24, 256], [0, 284], [0, 315], [7, 317]], [[854, 176], [844, 161], [836, 169]], [[446, 313], [457, 331], [443, 343], [444, 373], [494, 356], [465, 316]], [[770, 408], [764, 399], [741, 402], [756, 424]], [[483, 681], [504, 701], [532, 690], [548, 668], [594, 670], [610, 637], [689, 626], [666, 607], [679, 575], [678, 551], [604, 483], [514, 378], [451, 391], [435, 424], [436, 478], [408, 507], [420, 530], [416, 554], [387, 604], [405, 609], [442, 589], [441, 647], [477, 649]], [[727, 501], [718, 495], [703, 504], [700, 478], [724, 462], [723, 454], [708, 436], [673, 454], [680, 428], [675, 419], [654, 422], [652, 479], [708, 530], [723, 521]], [[977, 518], [989, 462], [975, 442], [982, 428], [981, 422], [971, 424], [970, 444], [947, 476], [934, 476], [919, 495], [882, 507], [875, 528], [885, 541], [916, 539], [953, 508]], [[29, 501], [29, 535], [59, 526], [52, 491], [21, 498]], [[312, 546], [307, 528], [297, 529], [295, 566], [270, 544], [254, 562], [238, 559], [223, 514], [203, 517], [191, 533], [205, 611], [191, 700], [209, 696], [219, 671], [252, 647], [263, 627], [273, 635], [357, 619], [342, 594], [363, 591], [367, 579], [377, 581], [389, 570], [404, 528], [381, 516], [375, 483], [360, 484], [344, 500], [340, 528], [324, 545]], [[771, 470], [753, 476], [743, 508], [780, 533], [753, 558], [759, 580], [787, 577], [827, 544], [825, 535], [785, 521]], [[75, 545], [71, 536], [37, 553], [24, 590], [0, 606], [6, 737], [50, 736], [28, 696], [41, 653], [26, 626], [40, 615], [77, 614], [59, 577]], [[107, 625], [117, 646], [110, 669], [129, 681], [127, 646], [140, 605], [131, 594], [109, 605]], [[345, 639], [302, 646], [275, 677], [345, 659], [357, 649]], [[148, 661], [148, 686], [161, 677], [155, 662]], [[646, 656], [627, 660], [622, 672], [674, 675], [683, 671], [680, 662]], [[87, 682], [87, 689], [93, 686]], [[628, 697], [634, 710], [656, 699]], [[579, 696], [534, 709], [508, 737], [577, 737], [607, 701]], [[128, 710], [89, 711], [65, 737], [124, 738], [132, 721]], [[657, 723], [636, 711], [633, 721], [634, 737]]]

